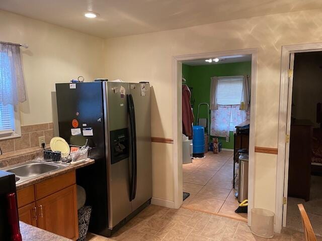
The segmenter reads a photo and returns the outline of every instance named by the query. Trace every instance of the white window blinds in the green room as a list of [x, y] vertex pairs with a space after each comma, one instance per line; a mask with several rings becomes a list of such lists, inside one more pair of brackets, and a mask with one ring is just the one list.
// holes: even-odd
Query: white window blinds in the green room
[[217, 85], [217, 104], [240, 104], [243, 92], [243, 76], [219, 77]]

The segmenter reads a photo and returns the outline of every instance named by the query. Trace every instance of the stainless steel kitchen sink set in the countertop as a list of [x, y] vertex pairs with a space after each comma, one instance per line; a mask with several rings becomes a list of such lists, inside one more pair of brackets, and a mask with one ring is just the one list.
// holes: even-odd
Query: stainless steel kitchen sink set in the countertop
[[45, 173], [66, 168], [66, 165], [34, 160], [2, 168], [1, 170], [16, 175], [16, 184], [41, 176]]

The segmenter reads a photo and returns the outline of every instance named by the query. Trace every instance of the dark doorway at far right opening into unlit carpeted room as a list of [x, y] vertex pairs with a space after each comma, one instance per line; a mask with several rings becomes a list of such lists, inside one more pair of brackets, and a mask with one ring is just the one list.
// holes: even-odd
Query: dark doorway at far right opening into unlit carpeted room
[[322, 236], [322, 51], [290, 53], [283, 226], [303, 231], [302, 203]]

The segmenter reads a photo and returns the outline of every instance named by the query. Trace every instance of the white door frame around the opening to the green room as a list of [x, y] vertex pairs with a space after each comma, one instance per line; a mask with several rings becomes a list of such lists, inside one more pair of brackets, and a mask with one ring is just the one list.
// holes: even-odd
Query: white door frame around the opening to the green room
[[216, 58], [221, 56], [250, 54], [252, 55], [251, 81], [251, 119], [249, 144], [249, 188], [248, 188], [248, 223], [251, 223], [251, 210], [254, 206], [254, 177], [255, 177], [255, 103], [257, 84], [257, 48], [227, 50], [200, 54], [187, 54], [173, 57], [173, 170], [174, 170], [174, 208], [182, 205], [182, 61]]

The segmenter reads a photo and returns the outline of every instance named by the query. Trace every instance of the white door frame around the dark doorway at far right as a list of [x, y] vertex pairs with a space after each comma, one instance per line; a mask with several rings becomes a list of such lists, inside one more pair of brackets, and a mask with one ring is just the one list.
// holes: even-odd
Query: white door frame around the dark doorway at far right
[[[295, 44], [282, 46], [280, 105], [278, 119], [278, 154], [276, 168], [276, 206], [275, 206], [275, 231], [280, 232], [286, 225], [286, 207], [283, 197], [287, 197], [288, 183], [288, 152], [289, 144], [286, 135], [289, 135], [291, 126], [291, 100], [293, 77], [288, 75], [289, 68], [293, 69], [294, 53], [322, 51], [322, 43]], [[292, 57], [293, 56], [293, 57]]]

